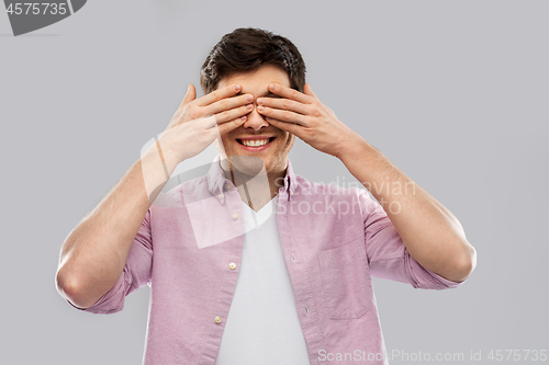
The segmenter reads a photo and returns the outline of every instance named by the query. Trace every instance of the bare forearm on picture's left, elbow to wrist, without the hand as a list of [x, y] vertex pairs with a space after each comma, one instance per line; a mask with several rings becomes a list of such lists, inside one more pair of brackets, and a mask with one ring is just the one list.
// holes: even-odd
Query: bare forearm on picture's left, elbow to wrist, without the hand
[[[168, 176], [156, 146], [136, 161], [65, 240], [59, 293], [79, 307], [93, 305], [120, 277], [141, 224]], [[169, 167], [171, 174], [175, 166]]]

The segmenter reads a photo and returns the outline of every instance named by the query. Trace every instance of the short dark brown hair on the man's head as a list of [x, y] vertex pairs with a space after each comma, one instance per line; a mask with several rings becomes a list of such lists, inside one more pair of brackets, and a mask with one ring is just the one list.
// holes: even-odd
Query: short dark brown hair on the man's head
[[305, 61], [298, 47], [283, 36], [254, 27], [240, 27], [221, 38], [200, 69], [200, 85], [208, 94], [221, 79], [262, 65], [280, 67], [288, 73], [291, 88], [303, 92]]

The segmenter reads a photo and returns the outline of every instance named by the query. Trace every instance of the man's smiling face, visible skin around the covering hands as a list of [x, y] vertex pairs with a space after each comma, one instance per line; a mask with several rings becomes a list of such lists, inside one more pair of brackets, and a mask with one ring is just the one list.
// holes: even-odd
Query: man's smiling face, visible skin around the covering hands
[[[295, 137], [288, 132], [270, 125], [257, 112], [256, 101], [260, 96], [280, 98], [270, 93], [268, 85], [269, 83], [279, 83], [290, 88], [288, 75], [278, 67], [266, 65], [256, 71], [233, 73], [223, 78], [220, 80], [217, 89], [233, 83], [242, 85], [240, 93], [238, 94], [249, 93], [254, 95], [254, 109], [247, 114], [247, 119], [240, 127], [221, 136], [226, 153], [223, 157], [228, 158], [229, 162], [232, 156], [257, 157], [265, 163], [267, 173], [282, 174], [285, 171], [288, 153], [293, 146]], [[240, 170], [240, 163], [233, 161], [233, 164]]]

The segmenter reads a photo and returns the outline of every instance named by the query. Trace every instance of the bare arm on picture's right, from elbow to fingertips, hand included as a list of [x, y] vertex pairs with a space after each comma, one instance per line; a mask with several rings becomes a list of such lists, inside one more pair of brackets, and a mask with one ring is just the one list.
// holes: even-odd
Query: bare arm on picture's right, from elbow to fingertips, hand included
[[[459, 282], [469, 275], [474, 267], [474, 249], [448, 209], [341, 123], [316, 98], [309, 83], [303, 93], [278, 84], [269, 85], [269, 91], [281, 98], [258, 99], [261, 105], [258, 110], [267, 121], [313, 148], [339, 158], [382, 204], [419, 264], [450, 281]], [[400, 192], [393, 189], [399, 186]]]

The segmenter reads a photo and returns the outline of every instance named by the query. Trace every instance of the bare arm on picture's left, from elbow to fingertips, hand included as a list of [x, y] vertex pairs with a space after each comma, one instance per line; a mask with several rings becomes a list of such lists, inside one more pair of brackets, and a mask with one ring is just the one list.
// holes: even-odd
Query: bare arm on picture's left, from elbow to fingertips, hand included
[[61, 295], [88, 307], [116, 284], [152, 202], [176, 167], [245, 122], [251, 95], [234, 96], [240, 90], [229, 84], [197, 100], [189, 84], [156, 144], [67, 237], [57, 270]]

